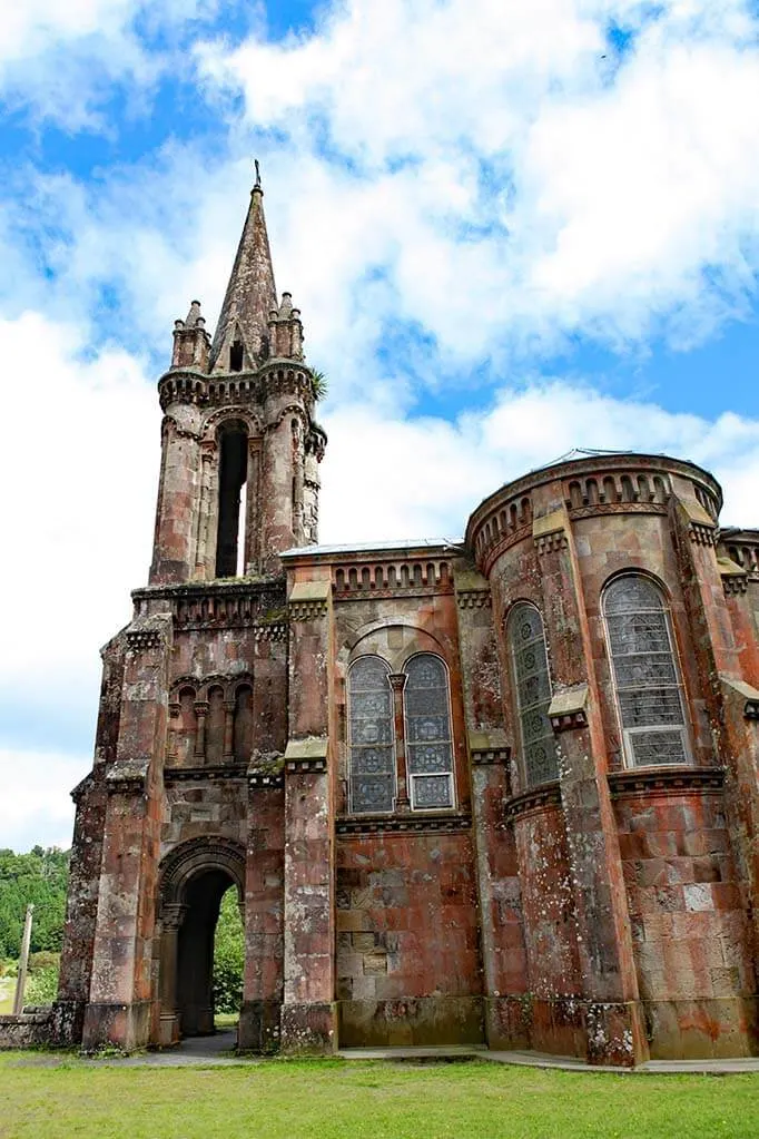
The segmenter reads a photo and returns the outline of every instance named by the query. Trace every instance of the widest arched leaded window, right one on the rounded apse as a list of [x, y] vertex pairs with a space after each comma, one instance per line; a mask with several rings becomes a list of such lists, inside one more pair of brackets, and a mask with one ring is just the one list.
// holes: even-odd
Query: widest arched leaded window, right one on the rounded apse
[[687, 762], [683, 685], [663, 597], [649, 577], [626, 574], [607, 589], [603, 612], [627, 763]]

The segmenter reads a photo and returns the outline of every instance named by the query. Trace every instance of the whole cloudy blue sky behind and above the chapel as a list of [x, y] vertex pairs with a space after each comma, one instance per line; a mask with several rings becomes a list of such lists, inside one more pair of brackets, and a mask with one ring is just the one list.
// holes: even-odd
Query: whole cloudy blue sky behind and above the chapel
[[574, 446], [759, 524], [759, 13], [744, 0], [27, 0], [0, 43], [0, 845], [67, 844], [150, 556], [155, 382], [262, 163], [330, 380], [321, 538], [456, 536]]

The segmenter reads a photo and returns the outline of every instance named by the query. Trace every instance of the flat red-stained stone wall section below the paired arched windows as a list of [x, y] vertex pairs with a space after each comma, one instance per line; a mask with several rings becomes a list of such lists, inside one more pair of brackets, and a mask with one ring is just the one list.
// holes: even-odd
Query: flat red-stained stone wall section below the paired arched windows
[[341, 1043], [479, 1042], [471, 835], [344, 836], [336, 874]]

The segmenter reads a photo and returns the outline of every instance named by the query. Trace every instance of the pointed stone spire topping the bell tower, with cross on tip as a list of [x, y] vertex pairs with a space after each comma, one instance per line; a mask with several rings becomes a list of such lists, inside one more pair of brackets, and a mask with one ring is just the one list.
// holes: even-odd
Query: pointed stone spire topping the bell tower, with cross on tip
[[256, 162], [256, 181], [250, 191], [248, 216], [211, 350], [214, 371], [229, 370], [231, 345], [239, 341], [242, 342], [246, 367], [257, 367], [265, 355], [266, 326], [269, 313], [277, 306], [277, 289], [263, 199]]

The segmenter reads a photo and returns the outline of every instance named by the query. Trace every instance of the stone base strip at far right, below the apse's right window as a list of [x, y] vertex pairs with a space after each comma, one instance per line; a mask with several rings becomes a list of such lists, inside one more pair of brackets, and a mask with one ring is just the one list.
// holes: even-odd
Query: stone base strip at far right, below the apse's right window
[[759, 1056], [759, 998], [642, 1001], [651, 1058]]

